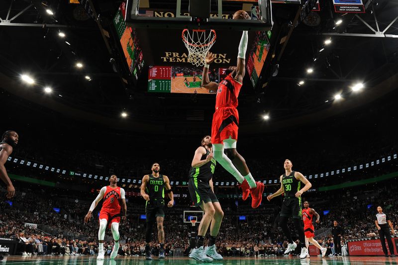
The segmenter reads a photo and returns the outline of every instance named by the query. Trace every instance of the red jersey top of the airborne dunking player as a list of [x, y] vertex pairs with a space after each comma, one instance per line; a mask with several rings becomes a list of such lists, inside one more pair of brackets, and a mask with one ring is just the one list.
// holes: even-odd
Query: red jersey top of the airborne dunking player
[[242, 84], [233, 79], [229, 74], [218, 85], [217, 96], [215, 97], [215, 109], [228, 105], [229, 107], [238, 106], [238, 95]]

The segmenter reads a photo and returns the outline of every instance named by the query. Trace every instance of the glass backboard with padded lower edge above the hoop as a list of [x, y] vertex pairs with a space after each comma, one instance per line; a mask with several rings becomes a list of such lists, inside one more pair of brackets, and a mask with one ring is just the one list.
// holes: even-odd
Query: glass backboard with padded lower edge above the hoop
[[[271, 0], [127, 0], [126, 9], [133, 28], [267, 31], [273, 24]], [[251, 19], [232, 19], [238, 10]]]

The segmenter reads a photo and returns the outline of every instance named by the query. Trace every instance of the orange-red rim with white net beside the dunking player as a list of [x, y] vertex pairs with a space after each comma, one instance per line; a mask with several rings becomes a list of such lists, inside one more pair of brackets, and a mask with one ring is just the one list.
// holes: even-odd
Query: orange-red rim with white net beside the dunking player
[[184, 29], [181, 34], [185, 47], [188, 49], [188, 59], [195, 66], [203, 66], [206, 56], [216, 38], [215, 31], [210, 29]]

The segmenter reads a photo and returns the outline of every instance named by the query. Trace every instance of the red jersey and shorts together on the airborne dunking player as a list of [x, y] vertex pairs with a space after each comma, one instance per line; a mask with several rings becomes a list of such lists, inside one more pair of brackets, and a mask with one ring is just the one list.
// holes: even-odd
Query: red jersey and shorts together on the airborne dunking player
[[211, 125], [211, 142], [221, 144], [225, 139], [238, 139], [238, 96], [242, 84], [229, 74], [218, 85], [215, 112]]

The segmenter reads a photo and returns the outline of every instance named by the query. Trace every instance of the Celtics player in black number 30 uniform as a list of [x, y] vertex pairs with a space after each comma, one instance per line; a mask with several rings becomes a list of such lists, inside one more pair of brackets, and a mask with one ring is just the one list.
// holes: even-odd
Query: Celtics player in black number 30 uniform
[[[300, 224], [301, 217], [301, 194], [307, 191], [312, 185], [311, 183], [297, 171], [292, 171], [292, 161], [289, 159], [285, 160], [284, 168], [285, 174], [280, 177], [281, 187], [272, 195], [267, 197], [268, 200], [285, 193], [285, 198], [282, 203], [280, 225], [283, 233], [288, 238], [289, 245], [285, 251], [285, 254], [294, 251], [297, 244], [293, 241], [292, 235], [288, 228], [288, 219], [293, 217], [293, 223], [295, 224], [296, 230], [298, 231], [298, 239], [301, 244], [300, 259], [304, 259], [308, 250], [305, 247], [304, 230]], [[305, 184], [301, 189], [301, 182]]]

